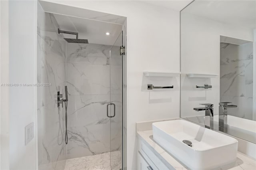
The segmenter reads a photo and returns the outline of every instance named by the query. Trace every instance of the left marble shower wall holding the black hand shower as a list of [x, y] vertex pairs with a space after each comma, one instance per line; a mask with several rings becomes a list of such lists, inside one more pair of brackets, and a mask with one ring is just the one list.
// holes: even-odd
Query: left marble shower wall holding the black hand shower
[[38, 87], [38, 169], [63, 170], [66, 163], [64, 142], [64, 109], [57, 107], [57, 90], [66, 84], [66, 42], [58, 34], [53, 14], [45, 13], [38, 3], [37, 25]]

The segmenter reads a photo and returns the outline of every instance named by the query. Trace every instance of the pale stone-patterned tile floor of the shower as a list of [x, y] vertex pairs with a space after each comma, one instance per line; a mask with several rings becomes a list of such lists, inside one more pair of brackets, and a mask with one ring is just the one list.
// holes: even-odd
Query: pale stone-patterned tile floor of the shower
[[120, 151], [112, 152], [111, 160], [112, 169], [110, 167], [110, 152], [68, 159], [65, 170], [119, 170], [121, 168]]

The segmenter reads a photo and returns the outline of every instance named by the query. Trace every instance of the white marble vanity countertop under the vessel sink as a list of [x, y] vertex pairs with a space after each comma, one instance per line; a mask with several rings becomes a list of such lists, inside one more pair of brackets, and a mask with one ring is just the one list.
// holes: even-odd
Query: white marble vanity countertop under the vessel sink
[[[181, 162], [172, 157], [166, 150], [159, 146], [154, 140], [152, 140], [152, 130], [138, 131], [137, 136], [146, 144], [154, 154], [170, 169], [186, 170]], [[210, 159], [210, 158], [209, 158]], [[237, 152], [237, 160], [233, 165], [223, 166], [217, 170], [255, 170], [256, 160]]]

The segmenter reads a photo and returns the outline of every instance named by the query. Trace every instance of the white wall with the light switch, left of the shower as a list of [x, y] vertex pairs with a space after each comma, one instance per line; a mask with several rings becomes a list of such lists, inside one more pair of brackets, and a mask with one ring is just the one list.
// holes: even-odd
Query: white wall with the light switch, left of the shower
[[[9, 1], [10, 83], [36, 83], [36, 3]], [[36, 136], [25, 146], [24, 132], [36, 120], [36, 87], [9, 90], [10, 169], [34, 170]]]

